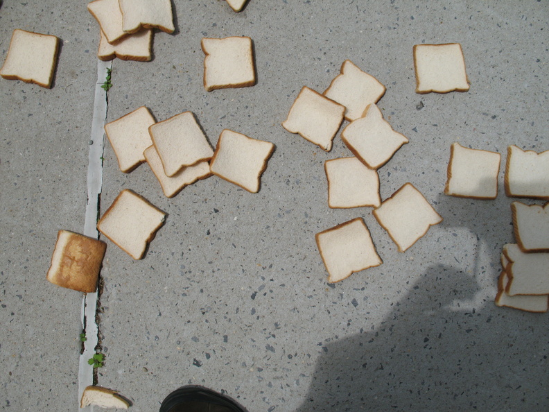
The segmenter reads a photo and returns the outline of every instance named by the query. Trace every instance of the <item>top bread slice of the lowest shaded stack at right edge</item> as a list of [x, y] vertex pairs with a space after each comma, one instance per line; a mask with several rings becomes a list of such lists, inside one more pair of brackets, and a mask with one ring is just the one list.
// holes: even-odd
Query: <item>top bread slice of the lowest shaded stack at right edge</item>
[[503, 253], [509, 261], [507, 294], [549, 295], [549, 253], [525, 253], [515, 243], [503, 246]]

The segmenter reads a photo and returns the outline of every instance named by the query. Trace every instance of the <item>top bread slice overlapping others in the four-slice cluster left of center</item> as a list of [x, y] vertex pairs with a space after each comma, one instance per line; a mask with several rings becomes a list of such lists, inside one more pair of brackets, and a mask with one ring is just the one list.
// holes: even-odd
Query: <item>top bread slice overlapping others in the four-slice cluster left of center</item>
[[169, 177], [186, 166], [210, 160], [214, 155], [214, 149], [192, 112], [159, 121], [150, 126], [149, 133], [162, 160], [164, 173]]

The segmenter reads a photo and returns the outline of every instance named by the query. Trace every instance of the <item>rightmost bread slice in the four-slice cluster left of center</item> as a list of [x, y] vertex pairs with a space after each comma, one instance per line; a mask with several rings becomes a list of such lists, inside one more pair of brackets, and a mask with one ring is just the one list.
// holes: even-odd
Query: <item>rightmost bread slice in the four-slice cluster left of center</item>
[[269, 141], [252, 139], [232, 130], [223, 130], [210, 169], [214, 175], [257, 193], [261, 174], [267, 167], [275, 145]]

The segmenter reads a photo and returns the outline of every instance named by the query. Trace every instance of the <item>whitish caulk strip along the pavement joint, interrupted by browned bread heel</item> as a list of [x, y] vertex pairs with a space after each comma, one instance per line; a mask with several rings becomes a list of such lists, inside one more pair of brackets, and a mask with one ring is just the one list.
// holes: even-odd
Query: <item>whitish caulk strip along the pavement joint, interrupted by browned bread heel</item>
[[[107, 77], [107, 68], [111, 62], [97, 62], [97, 83], [94, 97], [94, 117], [92, 119], [92, 136], [89, 145], [88, 171], [87, 171], [87, 205], [84, 223], [84, 234], [98, 238], [97, 216], [99, 212], [99, 196], [103, 184], [103, 142], [105, 139], [105, 119], [107, 118], [107, 93], [101, 87]], [[82, 327], [85, 328], [86, 341], [84, 352], [80, 355], [78, 363], [78, 406], [82, 392], [86, 386], [94, 383], [94, 368], [89, 365], [88, 359], [95, 354], [98, 342], [98, 327], [96, 324], [97, 293], [87, 293], [82, 299]], [[88, 406], [80, 411], [93, 411], [93, 406]]]

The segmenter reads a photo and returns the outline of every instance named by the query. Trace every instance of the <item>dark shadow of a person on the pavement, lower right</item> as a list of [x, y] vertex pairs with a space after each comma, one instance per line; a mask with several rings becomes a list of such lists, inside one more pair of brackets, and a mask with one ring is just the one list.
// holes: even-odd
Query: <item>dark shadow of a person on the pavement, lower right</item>
[[[510, 202], [502, 202], [503, 210]], [[444, 195], [434, 206], [448, 231], [467, 228], [491, 254], [488, 265], [498, 264], [491, 228], [508, 225], [507, 215]], [[474, 266], [431, 264], [375, 328], [324, 345], [297, 411], [548, 411], [546, 316], [498, 308], [493, 299], [459, 309], [456, 302], [481, 289], [482, 267]]]

